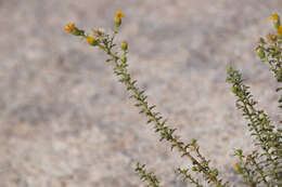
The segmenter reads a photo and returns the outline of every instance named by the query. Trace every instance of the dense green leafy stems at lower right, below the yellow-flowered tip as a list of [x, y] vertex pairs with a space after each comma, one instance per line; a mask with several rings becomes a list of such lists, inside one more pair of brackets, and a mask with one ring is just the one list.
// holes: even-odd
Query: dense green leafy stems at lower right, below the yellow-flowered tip
[[[242, 110], [248, 121], [247, 126], [254, 137], [257, 147], [252, 153], [244, 156], [241, 149], [235, 156], [240, 162], [235, 170], [241, 174], [249, 186], [264, 183], [266, 186], [281, 183], [282, 177], [282, 134], [270, 124], [269, 117], [264, 110], [257, 109], [249, 88], [243, 84], [242, 76], [232, 67], [228, 68], [227, 81], [232, 84], [231, 91], [238, 97], [236, 107]], [[282, 183], [280, 184], [282, 185]]]

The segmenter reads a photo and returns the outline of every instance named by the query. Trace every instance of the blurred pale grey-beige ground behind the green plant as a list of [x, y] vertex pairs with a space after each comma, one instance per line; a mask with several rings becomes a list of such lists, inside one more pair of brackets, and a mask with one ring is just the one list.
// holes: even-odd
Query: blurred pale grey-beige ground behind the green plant
[[0, 186], [144, 186], [134, 163], [163, 186], [190, 161], [158, 142], [117, 82], [106, 55], [64, 32], [66, 23], [112, 32], [129, 43], [129, 70], [149, 101], [220, 175], [240, 183], [234, 148], [249, 150], [246, 121], [226, 83], [234, 66], [274, 121], [277, 83], [254, 49], [273, 30], [281, 0], [0, 0]]

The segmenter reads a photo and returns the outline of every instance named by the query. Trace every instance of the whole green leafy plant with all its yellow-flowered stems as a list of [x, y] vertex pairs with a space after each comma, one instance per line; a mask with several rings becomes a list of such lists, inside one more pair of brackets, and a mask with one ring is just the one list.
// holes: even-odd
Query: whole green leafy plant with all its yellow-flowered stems
[[[132, 80], [128, 72], [128, 43], [123, 41], [119, 45], [121, 52], [115, 52], [116, 44], [114, 39], [118, 34], [121, 25], [124, 14], [118, 11], [115, 14], [115, 27], [112, 35], [105, 34], [104, 29], [92, 29], [92, 35], [86, 34], [76, 27], [74, 23], [65, 26], [65, 31], [74, 36], [84, 38], [87, 42], [104, 51], [108, 58], [106, 62], [114, 64], [114, 74], [119, 78], [127, 91], [130, 93], [130, 98], [136, 101], [134, 106], [140, 109], [140, 113], [148, 117], [148, 123], [154, 125], [155, 132], [159, 134], [159, 141], [167, 141], [170, 143], [171, 150], [177, 148], [182, 157], [188, 158], [191, 163], [191, 169], [176, 169], [176, 173], [182, 176], [183, 181], [189, 181], [197, 187], [202, 187], [201, 182], [194, 176], [202, 175], [209, 185], [217, 187], [229, 186], [228, 182], [223, 182], [219, 177], [217, 169], [209, 165], [210, 160], [204, 157], [200, 151], [200, 146], [196, 139], [191, 143], [184, 143], [180, 136], [176, 135], [176, 129], [167, 125], [167, 119], [164, 119], [159, 112], [156, 111], [155, 105], [148, 103], [145, 92], [137, 85], [137, 80]], [[280, 17], [278, 14], [272, 14], [270, 19], [274, 23], [275, 34], [269, 34], [267, 40], [260, 38], [259, 45], [256, 49], [257, 54], [261, 61], [270, 65], [270, 70], [274, 74], [278, 82], [282, 82], [282, 26], [280, 25]], [[257, 102], [254, 101], [249, 92], [249, 88], [243, 83], [242, 75], [232, 67], [228, 68], [228, 78], [232, 86], [231, 91], [236, 96], [236, 107], [242, 110], [243, 116], [248, 121], [248, 130], [254, 137], [256, 149], [244, 155], [243, 150], [238, 149], [235, 156], [239, 161], [234, 164], [236, 173], [243, 176], [245, 184], [251, 187], [282, 186], [282, 130], [273, 125], [264, 110], [257, 109]], [[277, 91], [282, 90], [278, 88]], [[282, 103], [282, 97], [279, 98]], [[282, 108], [282, 106], [280, 106]], [[158, 187], [159, 181], [152, 172], [146, 172], [144, 164], [137, 163], [136, 171], [140, 174], [141, 179], [148, 183], [148, 186]], [[193, 173], [193, 176], [192, 174]]]

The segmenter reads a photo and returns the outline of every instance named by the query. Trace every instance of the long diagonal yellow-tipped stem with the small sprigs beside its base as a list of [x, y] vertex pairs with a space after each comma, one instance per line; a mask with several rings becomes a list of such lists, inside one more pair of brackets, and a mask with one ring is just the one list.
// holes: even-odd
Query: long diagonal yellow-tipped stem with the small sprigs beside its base
[[[121, 18], [125, 15], [121, 11], [116, 12], [115, 14], [115, 29], [113, 35], [107, 35], [104, 32], [102, 28], [92, 29], [92, 35], [86, 35], [85, 31], [80, 31], [80, 36], [87, 40], [90, 45], [98, 46], [102, 51], [104, 51], [110, 58], [106, 62], [114, 63], [114, 74], [119, 77], [119, 82], [124, 83], [126, 89], [130, 92], [130, 98], [136, 101], [134, 106], [140, 109], [140, 113], [144, 113], [148, 117], [148, 123], [153, 123], [155, 132], [159, 134], [159, 141], [167, 141], [171, 145], [171, 150], [177, 148], [182, 157], [188, 158], [193, 166], [191, 169], [192, 172], [202, 174], [208, 183], [213, 183], [217, 187], [227, 187], [227, 183], [223, 183], [218, 175], [218, 170], [211, 168], [209, 165], [209, 160], [202, 156], [200, 151], [200, 147], [196, 144], [196, 141], [193, 139], [192, 143], [184, 144], [180, 141], [180, 137], [176, 135], [176, 129], [169, 128], [166, 125], [166, 119], [163, 119], [159, 112], [155, 111], [155, 105], [150, 105], [146, 101], [148, 96], [144, 94], [140, 88], [136, 85], [137, 81], [131, 79], [130, 74], [127, 69], [127, 53], [128, 53], [128, 43], [127, 41], [123, 41], [119, 45], [121, 54], [118, 52], [114, 52], [114, 46], [116, 44], [113, 42], [116, 34], [118, 32], [118, 28], [121, 24]], [[65, 30], [70, 34], [76, 34], [78, 28], [76, 28], [75, 24], [67, 24]], [[158, 186], [153, 175], [146, 175], [143, 168], [138, 168], [137, 171], [141, 172], [141, 175], [144, 179], [149, 179], [150, 184], [153, 186]], [[197, 184], [196, 179], [193, 179], [191, 175], [189, 175], [185, 169], [180, 172], [184, 178], [189, 179], [191, 183]], [[152, 176], [152, 177], [151, 177]]]

